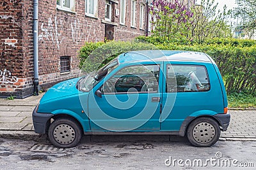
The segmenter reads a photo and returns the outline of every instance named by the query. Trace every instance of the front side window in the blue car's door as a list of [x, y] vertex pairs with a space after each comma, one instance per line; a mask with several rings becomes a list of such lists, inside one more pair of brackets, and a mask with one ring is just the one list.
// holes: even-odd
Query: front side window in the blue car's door
[[104, 82], [102, 93], [156, 93], [159, 65], [128, 66]]

